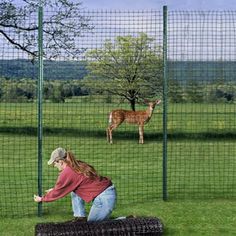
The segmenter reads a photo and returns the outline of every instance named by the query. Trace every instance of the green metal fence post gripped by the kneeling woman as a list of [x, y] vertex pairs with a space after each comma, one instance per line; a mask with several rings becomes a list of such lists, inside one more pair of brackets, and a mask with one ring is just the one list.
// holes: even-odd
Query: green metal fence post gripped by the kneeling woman
[[[42, 196], [42, 88], [43, 88], [43, 8], [38, 9], [38, 194]], [[38, 216], [42, 216], [42, 203], [38, 204]]]

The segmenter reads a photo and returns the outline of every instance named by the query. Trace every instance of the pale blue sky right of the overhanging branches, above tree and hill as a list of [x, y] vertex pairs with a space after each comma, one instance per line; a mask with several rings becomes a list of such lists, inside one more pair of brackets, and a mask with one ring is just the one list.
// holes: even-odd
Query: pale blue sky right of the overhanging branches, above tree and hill
[[[22, 3], [22, 0], [13, 1]], [[80, 43], [83, 45], [97, 47], [97, 45], [103, 44], [107, 37], [114, 38], [120, 35], [120, 33], [133, 35], [137, 32], [145, 32], [149, 35], [158, 30], [162, 31], [162, 28], [160, 28], [162, 26], [159, 24], [162, 20], [161, 14], [158, 15], [157, 13], [153, 16], [150, 12], [149, 14], [138, 12], [138, 14], [142, 14], [137, 15], [136, 12], [131, 17], [129, 14], [126, 16], [125, 11], [155, 10], [155, 12], [162, 13], [163, 6], [166, 5], [168, 11], [176, 11], [168, 15], [168, 29], [170, 31], [168, 35], [168, 48], [176, 56], [175, 59], [222, 60], [227, 57], [227, 59], [236, 60], [236, 25], [234, 23], [236, 22], [236, 0], [72, 1], [82, 2], [82, 7], [85, 11], [88, 11], [88, 14], [89, 12], [92, 13], [91, 11], [93, 10], [98, 10], [98, 12], [101, 10], [115, 11], [113, 16], [116, 17], [118, 22], [114, 25], [114, 17], [109, 18], [104, 12], [95, 14], [96, 17], [93, 16], [92, 19], [94, 20], [93, 25], [97, 29], [97, 31], [95, 30], [96, 36], [80, 38]], [[189, 14], [188, 12], [178, 12], [178, 10], [195, 12]], [[235, 12], [219, 12], [233, 10]], [[131, 18], [127, 20], [124, 15]], [[159, 18], [156, 19], [157, 24], [153, 25], [153, 17], [157, 17], [156, 15]], [[159, 38], [156, 39], [157, 41], [162, 39], [161, 31], [158, 33]], [[151, 37], [154, 36], [151, 35]], [[94, 40], [94, 42], [91, 40]], [[170, 57], [173, 58], [172, 55]]]

